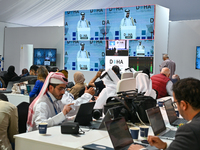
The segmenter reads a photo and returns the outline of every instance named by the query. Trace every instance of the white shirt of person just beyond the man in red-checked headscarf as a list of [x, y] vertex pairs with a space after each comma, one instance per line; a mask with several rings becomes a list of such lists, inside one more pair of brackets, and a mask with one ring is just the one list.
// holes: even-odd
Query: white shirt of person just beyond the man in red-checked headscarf
[[83, 103], [89, 102], [89, 100], [91, 100], [91, 98], [92, 98], [91, 94], [84, 93], [81, 97], [74, 100], [73, 95], [66, 91], [65, 94], [63, 95], [61, 101], [63, 104], [74, 103], [74, 105], [71, 105], [72, 110], [67, 114], [67, 116], [70, 117], [70, 116], [76, 115], [80, 105]]

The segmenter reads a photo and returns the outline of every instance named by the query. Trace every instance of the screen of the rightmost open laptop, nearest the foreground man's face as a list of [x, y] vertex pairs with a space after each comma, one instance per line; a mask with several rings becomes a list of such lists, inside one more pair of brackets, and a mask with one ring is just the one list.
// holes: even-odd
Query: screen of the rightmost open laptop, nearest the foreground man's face
[[169, 123], [171, 124], [177, 119], [174, 106], [172, 105], [172, 100], [171, 99], [166, 100], [164, 102], [164, 105], [165, 105], [165, 109], [168, 115]]

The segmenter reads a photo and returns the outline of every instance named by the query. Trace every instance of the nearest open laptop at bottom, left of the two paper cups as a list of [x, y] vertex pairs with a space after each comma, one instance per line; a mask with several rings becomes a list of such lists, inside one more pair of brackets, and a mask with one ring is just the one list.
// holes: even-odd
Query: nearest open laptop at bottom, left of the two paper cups
[[149, 144], [135, 143], [124, 117], [107, 121], [105, 126], [115, 150], [127, 150], [131, 144], [139, 144], [149, 150], [158, 150]]

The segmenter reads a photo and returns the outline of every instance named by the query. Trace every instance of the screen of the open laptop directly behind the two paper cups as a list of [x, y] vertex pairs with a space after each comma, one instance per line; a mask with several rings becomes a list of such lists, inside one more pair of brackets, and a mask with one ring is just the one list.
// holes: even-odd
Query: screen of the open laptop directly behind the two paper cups
[[165, 123], [162, 118], [159, 107], [153, 107], [146, 110], [149, 122], [151, 123], [152, 130], [155, 135], [158, 135], [162, 131], [166, 130]]

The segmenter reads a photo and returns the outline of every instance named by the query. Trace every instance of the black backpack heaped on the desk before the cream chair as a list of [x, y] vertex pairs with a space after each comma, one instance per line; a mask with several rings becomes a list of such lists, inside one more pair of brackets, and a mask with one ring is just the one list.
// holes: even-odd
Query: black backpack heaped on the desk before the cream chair
[[118, 96], [109, 97], [104, 105], [104, 114], [109, 108], [121, 106], [118, 109], [118, 117], [124, 117], [126, 121], [132, 123], [144, 122], [149, 123], [146, 115], [146, 109], [155, 107], [156, 99], [150, 96], [144, 96], [144, 93], [137, 93], [137, 91], [120, 92]]

